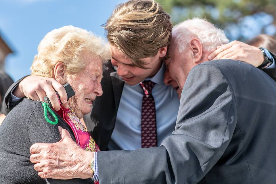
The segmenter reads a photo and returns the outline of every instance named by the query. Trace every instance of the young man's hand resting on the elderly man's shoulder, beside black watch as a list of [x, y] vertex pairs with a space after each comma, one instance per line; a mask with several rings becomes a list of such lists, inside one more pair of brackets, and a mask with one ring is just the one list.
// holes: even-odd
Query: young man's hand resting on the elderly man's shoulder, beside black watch
[[231, 41], [217, 49], [208, 56], [209, 60], [232, 59], [252, 64], [258, 67], [264, 61], [264, 56], [258, 47], [240, 41]]

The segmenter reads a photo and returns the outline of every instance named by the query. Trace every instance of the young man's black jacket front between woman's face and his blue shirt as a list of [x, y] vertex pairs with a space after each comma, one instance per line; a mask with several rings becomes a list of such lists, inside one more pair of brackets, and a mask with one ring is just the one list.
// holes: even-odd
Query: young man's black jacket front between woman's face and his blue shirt
[[108, 149], [124, 87], [124, 81], [117, 75], [111, 63], [108, 65], [108, 70], [103, 72], [103, 76], [101, 81], [103, 95], [93, 101], [95, 108], [92, 107], [91, 113], [83, 117], [87, 129], [102, 151]]

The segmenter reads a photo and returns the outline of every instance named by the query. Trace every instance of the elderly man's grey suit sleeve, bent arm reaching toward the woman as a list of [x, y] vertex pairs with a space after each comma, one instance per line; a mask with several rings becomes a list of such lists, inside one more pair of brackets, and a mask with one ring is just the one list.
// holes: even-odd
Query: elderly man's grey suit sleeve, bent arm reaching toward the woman
[[198, 183], [229, 145], [236, 122], [223, 73], [196, 66], [184, 85], [172, 135], [160, 147], [99, 152], [99, 183]]

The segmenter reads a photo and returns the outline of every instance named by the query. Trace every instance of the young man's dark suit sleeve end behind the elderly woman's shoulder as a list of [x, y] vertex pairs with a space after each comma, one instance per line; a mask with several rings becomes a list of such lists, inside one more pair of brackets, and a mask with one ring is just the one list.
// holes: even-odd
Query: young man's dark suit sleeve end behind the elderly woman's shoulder
[[[29, 75], [27, 75], [29, 76]], [[5, 114], [7, 116], [7, 114], [10, 112], [10, 110], [12, 110], [17, 104], [19, 104], [19, 102], [21, 101], [16, 101], [16, 102], [13, 102], [12, 101], [12, 98], [11, 98], [11, 91], [13, 89], [15, 89], [18, 84], [25, 78], [26, 76], [20, 78], [18, 81], [16, 81], [15, 83], [13, 83], [9, 89], [7, 90], [6, 94], [5, 94], [5, 97], [4, 97], [4, 100], [2, 102], [2, 112], [3, 114]], [[23, 98], [22, 98], [23, 99]]]

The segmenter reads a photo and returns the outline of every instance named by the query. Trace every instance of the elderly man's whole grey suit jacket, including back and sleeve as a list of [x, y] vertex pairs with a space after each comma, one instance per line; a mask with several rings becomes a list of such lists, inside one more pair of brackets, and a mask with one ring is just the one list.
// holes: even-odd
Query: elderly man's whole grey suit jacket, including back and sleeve
[[98, 152], [100, 183], [275, 183], [276, 85], [252, 65], [194, 67], [160, 147]]

